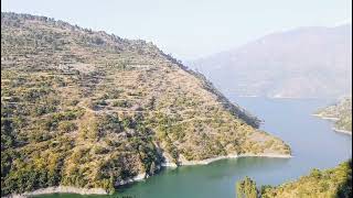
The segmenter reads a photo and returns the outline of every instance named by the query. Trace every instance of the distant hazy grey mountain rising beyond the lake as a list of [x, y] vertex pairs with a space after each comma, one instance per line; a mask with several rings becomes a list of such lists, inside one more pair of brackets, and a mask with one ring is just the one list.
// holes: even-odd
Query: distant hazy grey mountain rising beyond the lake
[[352, 88], [352, 25], [274, 33], [190, 65], [226, 95], [338, 98]]

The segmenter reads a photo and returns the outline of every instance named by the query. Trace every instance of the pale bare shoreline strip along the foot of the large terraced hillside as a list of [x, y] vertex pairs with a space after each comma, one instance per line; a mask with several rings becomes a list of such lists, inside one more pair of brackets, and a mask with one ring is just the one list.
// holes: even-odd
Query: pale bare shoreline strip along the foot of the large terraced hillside
[[[240, 155], [226, 155], [226, 156], [218, 156], [206, 158], [202, 161], [184, 161], [179, 164], [179, 166], [193, 166], [193, 165], [207, 165], [216, 161], [227, 160], [227, 158], [242, 158], [242, 157], [269, 157], [269, 158], [291, 158], [292, 155], [289, 154], [240, 154]], [[167, 168], [176, 168], [178, 165], [175, 163], [164, 163], [161, 164], [161, 167]], [[143, 173], [139, 174], [132, 178], [117, 182], [116, 186], [124, 186], [127, 184], [141, 182], [149, 176]], [[47, 188], [40, 188], [34, 191], [26, 191], [23, 194], [14, 194], [4, 196], [4, 198], [25, 198], [29, 196], [38, 196], [38, 195], [51, 195], [51, 194], [77, 194], [77, 195], [108, 195], [108, 193], [103, 188], [77, 188], [73, 186], [56, 186], [56, 187], [47, 187]]]

